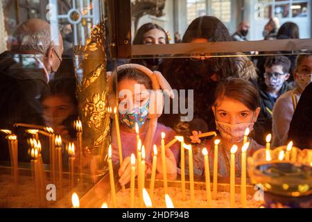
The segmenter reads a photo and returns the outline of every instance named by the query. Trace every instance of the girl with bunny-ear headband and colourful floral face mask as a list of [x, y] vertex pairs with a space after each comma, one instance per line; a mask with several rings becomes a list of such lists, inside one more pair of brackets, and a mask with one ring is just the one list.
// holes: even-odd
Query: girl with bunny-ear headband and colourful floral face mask
[[[160, 123], [155, 126], [155, 131], [152, 135], [149, 134], [150, 128], [153, 128], [152, 121], [155, 119], [151, 116], [150, 107], [155, 107], [155, 99], [150, 96], [150, 90], [153, 89], [152, 78], [150, 78], [144, 71], [137, 69], [141, 67], [139, 65], [129, 64], [123, 65], [122, 69], [117, 72], [117, 84], [116, 87], [113, 85], [114, 93], [118, 92], [119, 95], [119, 127], [121, 135], [121, 148], [123, 154], [123, 164], [119, 169], [119, 182], [121, 185], [125, 185], [130, 182], [130, 156], [131, 154], [137, 155], [137, 133], [136, 124], [139, 128], [139, 137], [142, 144], [146, 145], [146, 141], [150, 140], [150, 144], [157, 145], [157, 148], [161, 147], [161, 133], [165, 133], [165, 143], [167, 144], [175, 137], [175, 132]], [[144, 67], [146, 68], [146, 67]], [[150, 71], [152, 72], [152, 71]], [[162, 77], [162, 74], [153, 72], [153, 78], [157, 78], [157, 83], [166, 82]], [[114, 80], [115, 82], [115, 80]], [[167, 83], [167, 82], [166, 82]], [[165, 84], [166, 85], [166, 84]], [[170, 87], [170, 86], [169, 86]], [[149, 89], [149, 90], [148, 90]], [[166, 90], [164, 90], [166, 91]], [[156, 115], [157, 119], [158, 115]], [[116, 126], [112, 123], [112, 160], [114, 162], [119, 161], [119, 151], [116, 138]], [[150, 139], [146, 139], [150, 138]], [[152, 148], [153, 149], [153, 148]], [[146, 173], [150, 173], [151, 164], [153, 161], [153, 151], [148, 151], [147, 146], [145, 146], [146, 151]], [[160, 153], [160, 149], [158, 150]], [[177, 163], [179, 162], [180, 146], [179, 144], [174, 144], [171, 148], [166, 149], [166, 164], [167, 173], [175, 178], [177, 173]], [[157, 157], [157, 172], [162, 173], [162, 157], [158, 155]]]

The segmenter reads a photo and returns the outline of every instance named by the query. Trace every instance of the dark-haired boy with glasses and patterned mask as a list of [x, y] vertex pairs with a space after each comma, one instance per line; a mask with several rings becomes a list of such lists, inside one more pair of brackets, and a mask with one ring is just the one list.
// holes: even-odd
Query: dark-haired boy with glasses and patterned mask
[[259, 85], [261, 97], [261, 113], [265, 117], [263, 139], [272, 130], [272, 110], [275, 102], [285, 92], [291, 89], [287, 80], [290, 76], [291, 61], [285, 56], [268, 56], [264, 65], [264, 83]]

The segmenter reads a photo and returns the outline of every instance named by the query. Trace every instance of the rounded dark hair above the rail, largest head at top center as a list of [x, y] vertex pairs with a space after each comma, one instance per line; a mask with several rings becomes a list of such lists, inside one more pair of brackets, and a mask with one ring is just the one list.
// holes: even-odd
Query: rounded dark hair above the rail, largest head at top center
[[185, 31], [182, 42], [191, 42], [194, 39], [205, 38], [209, 42], [232, 41], [227, 27], [216, 17], [201, 16], [193, 20]]

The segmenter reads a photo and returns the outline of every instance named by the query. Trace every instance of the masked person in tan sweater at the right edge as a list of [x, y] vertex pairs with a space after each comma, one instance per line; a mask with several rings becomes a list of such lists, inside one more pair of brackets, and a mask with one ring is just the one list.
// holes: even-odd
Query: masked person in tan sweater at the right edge
[[[297, 56], [295, 67], [295, 89], [286, 92], [277, 99], [273, 108], [272, 146], [283, 146], [288, 143], [287, 135], [289, 125], [295, 110], [297, 110], [296, 101], [309, 83], [312, 82], [312, 51], [307, 54]], [[293, 99], [295, 96], [295, 99]], [[301, 113], [304, 115], [305, 113]], [[311, 113], [310, 113], [311, 114]], [[300, 114], [299, 114], [300, 115]], [[307, 123], [306, 123], [307, 124]]]

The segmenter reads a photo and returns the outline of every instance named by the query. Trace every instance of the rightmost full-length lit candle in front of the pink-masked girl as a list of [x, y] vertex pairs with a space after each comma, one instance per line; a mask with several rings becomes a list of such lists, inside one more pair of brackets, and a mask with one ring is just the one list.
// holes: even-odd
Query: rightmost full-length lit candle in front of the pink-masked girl
[[247, 167], [246, 167], [246, 161], [247, 161], [247, 149], [249, 147], [250, 142], [247, 142], [243, 144], [243, 147], [241, 148], [241, 204], [243, 207], [246, 207], [247, 205], [247, 191], [246, 191], [246, 185], [247, 185]]

